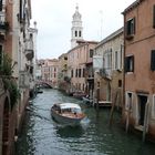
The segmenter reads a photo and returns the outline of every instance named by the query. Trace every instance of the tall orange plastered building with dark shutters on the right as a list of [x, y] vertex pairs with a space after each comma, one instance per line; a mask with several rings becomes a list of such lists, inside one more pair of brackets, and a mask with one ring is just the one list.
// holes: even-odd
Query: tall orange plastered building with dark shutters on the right
[[123, 12], [125, 34], [124, 123], [155, 137], [155, 1], [138, 0]]

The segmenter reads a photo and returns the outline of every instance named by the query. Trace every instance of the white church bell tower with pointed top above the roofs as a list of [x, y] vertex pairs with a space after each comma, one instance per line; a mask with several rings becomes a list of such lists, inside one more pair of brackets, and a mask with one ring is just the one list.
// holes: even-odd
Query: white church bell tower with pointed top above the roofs
[[78, 45], [78, 40], [83, 40], [83, 28], [82, 28], [82, 16], [79, 12], [79, 7], [75, 8], [75, 13], [73, 14], [73, 21], [72, 21], [72, 29], [71, 29], [71, 48]]

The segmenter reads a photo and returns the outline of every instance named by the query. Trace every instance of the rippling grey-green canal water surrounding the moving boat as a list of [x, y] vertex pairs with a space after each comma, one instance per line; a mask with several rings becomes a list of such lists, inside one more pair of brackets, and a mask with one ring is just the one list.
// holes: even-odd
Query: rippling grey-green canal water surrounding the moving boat
[[[71, 127], [55, 123], [50, 108], [56, 102], [80, 104], [86, 114], [82, 124]], [[16, 155], [155, 155], [155, 144], [142, 143], [142, 138], [125, 133], [117, 113], [108, 127], [110, 110], [96, 112], [58, 90], [43, 90], [29, 108]]]

